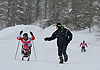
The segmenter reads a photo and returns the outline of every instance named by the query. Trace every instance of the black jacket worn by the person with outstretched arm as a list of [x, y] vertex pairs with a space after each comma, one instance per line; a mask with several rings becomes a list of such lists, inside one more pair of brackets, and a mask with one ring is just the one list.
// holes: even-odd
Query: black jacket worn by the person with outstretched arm
[[64, 28], [61, 27], [60, 29], [56, 30], [51, 37], [48, 37], [48, 41], [54, 40], [57, 38], [57, 46], [62, 47], [67, 45], [72, 40], [72, 33]]

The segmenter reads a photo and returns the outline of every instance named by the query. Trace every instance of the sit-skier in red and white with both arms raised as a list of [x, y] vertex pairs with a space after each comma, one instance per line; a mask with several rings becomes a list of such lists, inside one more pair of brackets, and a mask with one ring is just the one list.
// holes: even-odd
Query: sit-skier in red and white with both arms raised
[[22, 42], [22, 50], [21, 50], [21, 54], [23, 55], [22, 60], [24, 60], [24, 57], [28, 57], [27, 61], [29, 61], [30, 55], [31, 55], [31, 47], [32, 47], [31, 41], [34, 40], [35, 37], [31, 31], [30, 31], [30, 34], [32, 35], [32, 38], [29, 38], [27, 33], [24, 33], [23, 37], [21, 37], [22, 33], [23, 33], [23, 30], [20, 31], [20, 34], [17, 37], [17, 39], [21, 40]]

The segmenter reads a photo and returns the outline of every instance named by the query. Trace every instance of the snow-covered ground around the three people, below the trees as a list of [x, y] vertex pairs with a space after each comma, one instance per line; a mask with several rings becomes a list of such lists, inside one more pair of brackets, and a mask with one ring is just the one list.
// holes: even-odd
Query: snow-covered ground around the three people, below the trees
[[[37, 61], [32, 55], [30, 61], [21, 61], [21, 42], [17, 50], [19, 31], [23, 30], [29, 34], [32, 31], [36, 37], [33, 41]], [[96, 40], [95, 31], [88, 33], [84, 31], [72, 31], [73, 40], [67, 48], [69, 61], [59, 64], [56, 40], [45, 42], [44, 37], [49, 37], [56, 30], [54, 26], [41, 29], [33, 25], [16, 25], [0, 31], [0, 70], [100, 70], [100, 41]], [[29, 36], [31, 36], [29, 34]], [[79, 44], [85, 40], [88, 44], [87, 52], [80, 52]]]

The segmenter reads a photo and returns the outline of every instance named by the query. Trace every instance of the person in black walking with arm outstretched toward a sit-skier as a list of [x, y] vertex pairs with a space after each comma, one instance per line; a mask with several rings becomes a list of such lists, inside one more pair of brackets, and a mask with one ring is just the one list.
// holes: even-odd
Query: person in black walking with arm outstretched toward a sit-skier
[[[66, 53], [66, 49], [68, 46], [68, 43], [72, 40], [72, 33], [64, 28], [61, 23], [56, 24], [57, 30], [52, 34], [51, 37], [44, 38], [45, 41], [51, 41], [57, 38], [57, 46], [58, 46], [58, 56], [60, 58], [59, 63], [63, 63], [63, 56], [64, 61], [67, 62], [68, 55]], [[62, 56], [63, 55], [63, 56]]]

